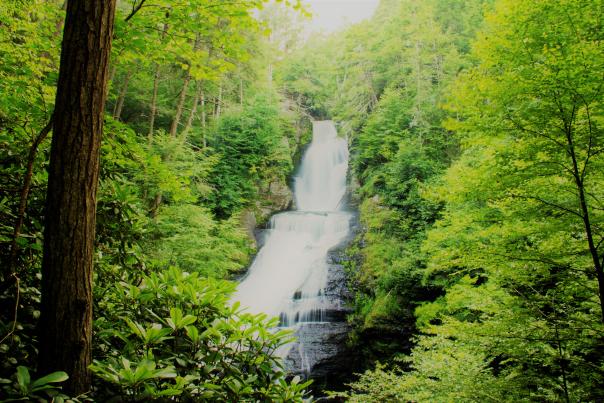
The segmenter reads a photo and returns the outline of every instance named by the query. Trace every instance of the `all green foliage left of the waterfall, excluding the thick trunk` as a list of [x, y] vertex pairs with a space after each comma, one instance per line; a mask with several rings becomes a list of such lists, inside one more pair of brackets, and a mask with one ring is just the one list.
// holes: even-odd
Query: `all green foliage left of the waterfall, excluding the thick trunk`
[[[32, 380], [28, 369], [37, 364], [52, 136], [41, 133], [52, 116], [63, 5], [0, 5], [0, 377], [2, 397], [17, 400], [67, 399], [65, 374]], [[286, 381], [275, 358], [289, 335], [229, 306], [233, 285], [217, 280], [248, 264], [253, 242], [238, 213], [274, 208], [265, 189], [285, 183], [305, 130], [265, 82], [272, 56], [263, 57], [274, 45], [262, 32], [270, 18], [254, 17], [261, 5], [119, 4], [97, 200], [98, 377], [72, 401], [305, 395], [308, 383]], [[245, 147], [229, 143], [234, 133]], [[220, 170], [233, 162], [245, 169]], [[230, 183], [245, 191], [233, 197], [241, 189]]]

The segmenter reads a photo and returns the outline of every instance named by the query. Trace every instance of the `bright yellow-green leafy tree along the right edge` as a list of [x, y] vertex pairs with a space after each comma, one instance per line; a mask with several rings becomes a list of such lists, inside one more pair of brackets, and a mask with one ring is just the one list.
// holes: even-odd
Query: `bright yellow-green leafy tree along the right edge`
[[445, 294], [417, 308], [406, 371], [367, 372], [353, 401], [602, 399], [600, 12], [496, 2], [446, 108], [462, 154], [420, 193], [445, 206], [421, 246]]

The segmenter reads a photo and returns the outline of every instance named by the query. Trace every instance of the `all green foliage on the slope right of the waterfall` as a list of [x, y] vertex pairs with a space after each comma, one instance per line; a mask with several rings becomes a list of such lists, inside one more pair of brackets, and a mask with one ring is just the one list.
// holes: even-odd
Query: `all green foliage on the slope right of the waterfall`
[[[397, 7], [402, 28], [388, 32]], [[403, 45], [356, 60], [374, 101], [371, 91], [331, 100], [353, 130], [361, 182], [353, 319], [365, 332], [402, 328], [397, 318], [411, 321], [415, 309], [417, 329], [409, 355], [342, 396], [602, 399], [600, 11], [572, 1], [393, 1], [373, 20], [382, 35], [347, 34], [357, 49]], [[398, 76], [376, 66], [397, 56]], [[408, 347], [373, 348], [372, 358]]]

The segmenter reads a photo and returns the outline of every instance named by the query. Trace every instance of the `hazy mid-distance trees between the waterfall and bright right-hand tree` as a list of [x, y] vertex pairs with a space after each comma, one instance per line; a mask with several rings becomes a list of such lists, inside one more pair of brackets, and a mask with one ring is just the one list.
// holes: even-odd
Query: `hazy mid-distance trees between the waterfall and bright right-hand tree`
[[[465, 10], [455, 24], [444, 15]], [[351, 250], [356, 289], [353, 338], [369, 360], [408, 349], [414, 307], [439, 285], [422, 284], [426, 230], [443, 202], [424, 189], [457, 155], [458, 141], [442, 126], [448, 85], [471, 65], [468, 42], [488, 2], [383, 1], [375, 16], [295, 52], [283, 85], [299, 105], [333, 116], [351, 138], [359, 181], [360, 248]]]

